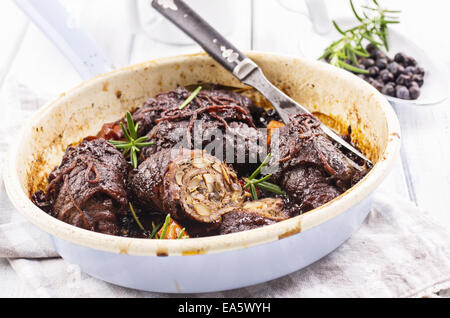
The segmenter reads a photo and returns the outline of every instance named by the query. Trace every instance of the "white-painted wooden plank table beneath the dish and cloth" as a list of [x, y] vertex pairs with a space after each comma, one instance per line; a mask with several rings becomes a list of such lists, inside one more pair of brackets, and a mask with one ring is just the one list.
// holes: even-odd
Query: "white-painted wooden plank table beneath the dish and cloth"
[[[62, 0], [98, 41], [117, 67], [168, 55], [198, 52], [196, 45], [173, 46], [133, 32], [127, 14], [131, 0]], [[311, 32], [305, 16], [289, 12], [276, 0], [230, 0], [239, 3], [230, 41], [242, 50], [299, 55], [302, 37]], [[387, 1], [384, 1], [385, 3]], [[346, 1], [328, 1], [332, 18], [351, 12]], [[450, 70], [450, 4], [445, 0], [390, 1], [402, 10], [396, 28], [433, 52]], [[17, 81], [46, 98], [56, 97], [81, 79], [71, 64], [19, 11], [11, 0], [0, 1], [0, 94]], [[2, 105], [0, 105], [2, 107]], [[403, 131], [401, 160], [382, 184], [391, 193], [409, 198], [450, 229], [450, 100], [430, 107], [397, 105]], [[0, 145], [0, 151], [5, 151]], [[1, 211], [0, 211], [1, 213]], [[0, 260], [0, 285], [15, 282], [0, 297], [26, 297], [26, 286]]]

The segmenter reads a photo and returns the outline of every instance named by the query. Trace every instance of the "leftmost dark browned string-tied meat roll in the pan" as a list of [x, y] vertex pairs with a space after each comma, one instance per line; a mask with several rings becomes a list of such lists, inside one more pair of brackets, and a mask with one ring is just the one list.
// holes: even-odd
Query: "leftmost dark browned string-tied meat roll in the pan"
[[61, 165], [50, 174], [41, 204], [47, 202], [61, 221], [116, 235], [117, 215], [125, 214], [128, 204], [127, 173], [125, 159], [111, 144], [104, 139], [84, 141], [67, 149]]

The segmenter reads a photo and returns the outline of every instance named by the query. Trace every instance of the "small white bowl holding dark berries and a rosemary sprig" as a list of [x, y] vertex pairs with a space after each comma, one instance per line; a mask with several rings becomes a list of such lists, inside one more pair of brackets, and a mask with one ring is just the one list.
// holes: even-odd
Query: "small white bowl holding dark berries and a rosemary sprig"
[[[357, 10], [354, 18], [334, 20], [334, 32], [319, 58], [362, 78], [390, 102], [437, 104], [448, 97], [445, 67], [392, 25], [400, 11], [373, 6]], [[329, 44], [329, 41], [332, 43]]]

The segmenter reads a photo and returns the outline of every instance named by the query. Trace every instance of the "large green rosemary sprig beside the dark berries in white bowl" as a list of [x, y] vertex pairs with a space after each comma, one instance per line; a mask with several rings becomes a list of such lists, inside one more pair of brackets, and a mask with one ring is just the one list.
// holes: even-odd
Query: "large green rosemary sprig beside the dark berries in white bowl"
[[353, 28], [342, 30], [336, 21], [333, 21], [334, 27], [342, 35], [342, 38], [331, 43], [319, 59], [327, 59], [331, 65], [354, 73], [369, 73], [369, 71], [358, 67], [359, 57], [370, 57], [370, 53], [365, 48], [365, 43], [369, 42], [376, 49], [384, 47], [389, 51], [387, 41], [388, 25], [400, 23], [397, 20], [398, 17], [391, 16], [391, 14], [399, 13], [400, 11], [384, 9], [380, 7], [377, 0], [372, 1], [376, 7], [363, 6], [368, 11], [363, 11], [361, 15], [356, 11], [353, 1], [350, 0], [350, 6], [359, 24]]

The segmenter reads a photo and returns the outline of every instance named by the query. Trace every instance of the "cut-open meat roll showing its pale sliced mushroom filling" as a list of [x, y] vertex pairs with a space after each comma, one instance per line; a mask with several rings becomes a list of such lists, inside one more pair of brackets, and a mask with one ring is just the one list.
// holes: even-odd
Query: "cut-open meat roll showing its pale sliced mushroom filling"
[[144, 210], [176, 220], [214, 223], [244, 202], [236, 173], [201, 150], [162, 150], [147, 158], [132, 180]]

